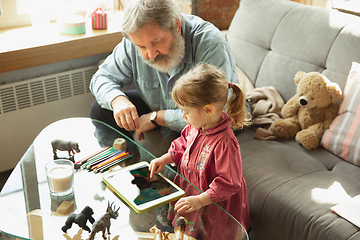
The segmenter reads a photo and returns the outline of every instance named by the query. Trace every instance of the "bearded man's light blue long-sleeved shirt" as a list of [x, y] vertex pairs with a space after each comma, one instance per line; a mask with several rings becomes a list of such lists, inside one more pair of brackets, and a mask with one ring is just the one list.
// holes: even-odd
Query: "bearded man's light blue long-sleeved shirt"
[[152, 111], [166, 110], [162, 127], [164, 137], [180, 132], [186, 125], [182, 112], [171, 99], [175, 81], [199, 63], [209, 63], [225, 72], [229, 82], [238, 83], [236, 65], [224, 35], [211, 23], [193, 15], [183, 14], [182, 36], [185, 56], [171, 75], [149, 66], [136, 46], [124, 38], [94, 74], [90, 90], [102, 108], [112, 110], [111, 101], [124, 95], [122, 88], [134, 84]]

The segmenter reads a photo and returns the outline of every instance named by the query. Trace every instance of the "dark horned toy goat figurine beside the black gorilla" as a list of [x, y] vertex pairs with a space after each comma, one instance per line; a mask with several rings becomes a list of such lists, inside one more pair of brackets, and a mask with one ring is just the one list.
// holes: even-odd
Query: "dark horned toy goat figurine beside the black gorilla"
[[108, 230], [108, 235], [110, 235], [110, 219], [111, 218], [116, 219], [119, 216], [118, 211], [120, 209], [120, 207], [119, 207], [117, 210], [115, 210], [115, 206], [114, 206], [114, 209], [112, 209], [113, 203], [114, 202], [112, 202], [110, 204], [110, 202], [108, 202], [108, 207], [106, 209], [106, 213], [101, 218], [96, 220], [95, 223], [93, 224], [89, 240], [93, 240], [96, 233], [100, 232], [100, 231], [102, 231], [102, 233], [103, 233], [102, 237], [104, 239], [106, 239], [106, 237], [105, 237], [106, 229]]

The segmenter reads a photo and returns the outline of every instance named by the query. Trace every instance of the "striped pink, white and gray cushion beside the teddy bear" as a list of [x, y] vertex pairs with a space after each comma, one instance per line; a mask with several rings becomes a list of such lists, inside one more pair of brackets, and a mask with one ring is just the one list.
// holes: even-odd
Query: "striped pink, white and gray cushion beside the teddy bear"
[[360, 166], [360, 64], [352, 64], [339, 115], [323, 135], [321, 144], [342, 159]]

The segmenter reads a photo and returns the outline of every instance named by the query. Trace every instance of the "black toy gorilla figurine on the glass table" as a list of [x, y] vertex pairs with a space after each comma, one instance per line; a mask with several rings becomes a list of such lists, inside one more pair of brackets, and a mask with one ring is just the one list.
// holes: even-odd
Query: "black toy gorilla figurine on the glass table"
[[71, 228], [73, 223], [76, 223], [77, 225], [79, 225], [79, 227], [81, 227], [82, 229], [84, 229], [85, 231], [91, 232], [90, 228], [86, 225], [87, 220], [89, 220], [89, 222], [91, 224], [93, 224], [95, 222], [95, 219], [91, 216], [93, 215], [94, 212], [91, 209], [91, 207], [86, 206], [84, 207], [84, 209], [81, 211], [81, 213], [71, 213], [66, 222], [65, 225], [61, 228], [61, 230], [63, 230], [64, 233], [66, 233], [66, 231]]

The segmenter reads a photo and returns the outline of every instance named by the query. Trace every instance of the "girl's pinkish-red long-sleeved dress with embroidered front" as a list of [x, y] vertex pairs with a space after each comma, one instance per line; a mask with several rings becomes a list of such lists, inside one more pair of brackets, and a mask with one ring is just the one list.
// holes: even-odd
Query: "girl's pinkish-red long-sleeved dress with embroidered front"
[[[181, 136], [173, 141], [169, 153], [178, 172], [236, 218], [245, 230], [250, 228], [246, 183], [242, 171], [239, 143], [230, 128], [230, 118], [214, 128], [203, 130], [187, 125]], [[200, 192], [181, 176], [174, 182], [185, 190], [186, 196]], [[186, 235], [206, 240], [236, 239], [239, 224], [219, 206], [210, 204], [191, 213], [178, 214], [171, 203], [168, 218], [187, 220]]]

